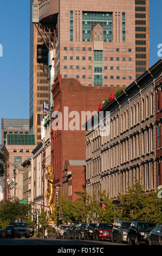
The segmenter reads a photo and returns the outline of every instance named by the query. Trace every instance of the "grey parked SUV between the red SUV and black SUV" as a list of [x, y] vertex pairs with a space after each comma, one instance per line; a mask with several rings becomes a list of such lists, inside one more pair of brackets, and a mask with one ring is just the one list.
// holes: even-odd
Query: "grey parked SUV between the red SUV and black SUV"
[[128, 228], [132, 222], [117, 221], [112, 229], [112, 242], [127, 242]]

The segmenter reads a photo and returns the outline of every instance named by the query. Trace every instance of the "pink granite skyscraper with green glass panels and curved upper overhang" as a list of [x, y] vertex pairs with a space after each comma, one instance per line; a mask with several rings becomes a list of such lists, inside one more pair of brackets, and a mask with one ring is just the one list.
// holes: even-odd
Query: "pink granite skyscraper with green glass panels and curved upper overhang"
[[57, 25], [55, 77], [125, 87], [149, 67], [148, 0], [44, 0], [38, 17]]

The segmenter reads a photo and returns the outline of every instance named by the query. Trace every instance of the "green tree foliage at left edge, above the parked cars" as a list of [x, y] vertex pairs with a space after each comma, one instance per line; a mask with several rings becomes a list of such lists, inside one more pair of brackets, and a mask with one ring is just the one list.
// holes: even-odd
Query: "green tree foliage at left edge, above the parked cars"
[[31, 213], [30, 204], [20, 204], [19, 199], [7, 201], [3, 204], [0, 210], [0, 221], [3, 223], [12, 224], [15, 221], [25, 222], [27, 215]]

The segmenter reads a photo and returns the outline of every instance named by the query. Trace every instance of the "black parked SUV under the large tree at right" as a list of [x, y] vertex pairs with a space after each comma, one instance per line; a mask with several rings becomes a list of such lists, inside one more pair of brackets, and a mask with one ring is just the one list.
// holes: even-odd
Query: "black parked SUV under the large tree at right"
[[128, 245], [140, 245], [147, 243], [150, 231], [154, 228], [152, 223], [133, 221], [128, 229], [127, 243]]

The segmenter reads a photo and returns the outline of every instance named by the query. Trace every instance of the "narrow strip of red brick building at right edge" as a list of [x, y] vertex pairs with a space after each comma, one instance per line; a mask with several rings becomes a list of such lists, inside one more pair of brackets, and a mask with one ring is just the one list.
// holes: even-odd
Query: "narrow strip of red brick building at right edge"
[[162, 185], [162, 80], [155, 84], [155, 120], [156, 120], [156, 169], [157, 187]]

